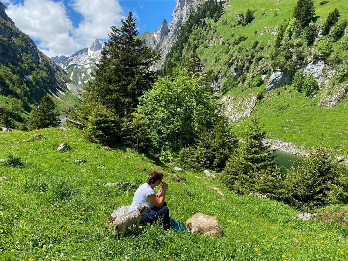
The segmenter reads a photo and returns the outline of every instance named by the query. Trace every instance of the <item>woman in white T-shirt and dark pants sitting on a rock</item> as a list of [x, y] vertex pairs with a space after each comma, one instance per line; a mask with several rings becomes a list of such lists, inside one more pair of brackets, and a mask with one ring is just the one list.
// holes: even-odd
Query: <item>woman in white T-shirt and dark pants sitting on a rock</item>
[[[166, 196], [168, 184], [162, 180], [163, 174], [161, 172], [151, 171], [146, 183], [142, 184], [135, 191], [129, 211], [133, 211], [140, 205], [146, 203], [151, 208], [151, 211], [149, 213], [142, 214], [140, 223], [153, 224], [159, 220], [164, 230], [167, 230], [170, 228], [169, 208], [167, 207], [167, 203], [164, 201], [164, 198]], [[162, 184], [161, 189], [156, 194], [153, 189], [159, 184]]]

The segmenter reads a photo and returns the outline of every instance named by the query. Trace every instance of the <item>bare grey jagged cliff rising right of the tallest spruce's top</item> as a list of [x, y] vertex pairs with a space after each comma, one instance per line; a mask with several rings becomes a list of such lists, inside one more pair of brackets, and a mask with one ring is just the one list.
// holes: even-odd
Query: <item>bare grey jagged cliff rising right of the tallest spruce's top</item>
[[192, 8], [196, 8], [201, 0], [176, 0], [176, 6], [172, 14], [172, 21], [167, 24], [166, 19], [163, 19], [162, 24], [153, 33], [146, 32], [139, 35], [139, 38], [144, 41], [145, 45], [160, 50], [161, 60], [155, 65], [154, 69], [160, 69], [165, 62], [169, 51], [175, 44], [180, 32], [181, 23], [185, 22]]

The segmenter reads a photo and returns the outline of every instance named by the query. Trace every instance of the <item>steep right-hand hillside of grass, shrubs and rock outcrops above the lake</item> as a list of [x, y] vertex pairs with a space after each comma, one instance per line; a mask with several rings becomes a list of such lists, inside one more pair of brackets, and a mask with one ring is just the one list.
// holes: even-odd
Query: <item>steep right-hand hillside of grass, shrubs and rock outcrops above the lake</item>
[[[169, 53], [162, 72], [177, 73], [177, 69], [187, 64], [192, 49], [197, 47], [196, 52], [204, 64], [204, 71], [212, 75], [211, 87], [216, 92], [231, 75], [238, 78], [238, 86], [232, 86], [233, 90], [227, 94], [220, 92], [224, 112], [234, 125], [240, 125], [239, 122], [258, 106], [262, 121], [270, 129], [272, 138], [311, 147], [323, 133], [328, 145], [337, 150], [337, 153], [342, 153], [339, 151], [348, 149], [345, 127], [348, 29], [343, 27], [343, 36], [338, 40], [334, 40], [333, 32], [321, 36], [321, 29], [335, 8], [340, 13], [338, 23], [347, 21], [348, 9], [339, 0], [330, 0], [322, 5], [319, 4], [320, 0], [315, 0], [315, 42], [307, 44], [302, 38], [302, 32], [299, 36], [292, 37], [288, 43], [289, 53], [284, 55], [290, 57], [275, 57], [278, 26], [292, 17], [296, 2], [225, 2], [223, 15], [219, 19], [204, 18], [190, 28], [187, 40], [179, 47], [180, 52]], [[239, 23], [239, 19], [248, 9], [255, 18], [243, 25], [243, 22]], [[332, 52], [325, 56], [318, 41], [332, 45]], [[280, 86], [290, 84], [294, 72], [304, 69], [306, 73], [315, 74], [319, 90], [312, 97], [305, 97], [294, 86], [265, 91], [265, 87], [269, 89], [268, 81], [273, 77], [272, 72], [279, 68], [284, 72], [281, 78], [284, 82]], [[253, 84], [258, 75], [263, 78], [261, 87]]]

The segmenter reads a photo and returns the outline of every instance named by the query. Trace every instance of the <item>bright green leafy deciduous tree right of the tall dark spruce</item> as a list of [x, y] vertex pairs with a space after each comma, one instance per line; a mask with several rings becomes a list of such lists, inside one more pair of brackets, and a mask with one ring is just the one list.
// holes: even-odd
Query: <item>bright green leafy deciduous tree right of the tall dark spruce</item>
[[145, 116], [155, 150], [173, 154], [192, 144], [203, 129], [212, 128], [220, 106], [203, 80], [184, 70], [175, 78], [158, 78], [141, 97], [139, 112]]

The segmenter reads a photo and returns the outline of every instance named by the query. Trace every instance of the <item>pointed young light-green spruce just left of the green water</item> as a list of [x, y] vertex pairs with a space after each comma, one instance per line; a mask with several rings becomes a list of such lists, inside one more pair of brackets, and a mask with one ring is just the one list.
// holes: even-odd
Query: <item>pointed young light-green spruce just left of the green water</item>
[[222, 172], [222, 181], [237, 193], [254, 190], [257, 176], [275, 166], [273, 151], [263, 145], [267, 132], [262, 128], [257, 111], [254, 111], [246, 122], [242, 143]]

